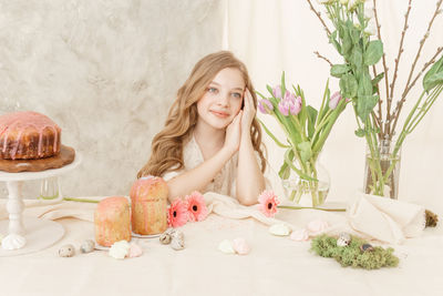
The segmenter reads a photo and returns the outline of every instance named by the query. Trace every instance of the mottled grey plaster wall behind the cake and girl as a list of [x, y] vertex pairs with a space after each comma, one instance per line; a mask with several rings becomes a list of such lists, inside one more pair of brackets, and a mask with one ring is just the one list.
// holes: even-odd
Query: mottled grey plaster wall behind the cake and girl
[[0, 0], [0, 114], [33, 110], [62, 127], [83, 156], [64, 194], [128, 194], [177, 89], [220, 50], [223, 14], [217, 0]]

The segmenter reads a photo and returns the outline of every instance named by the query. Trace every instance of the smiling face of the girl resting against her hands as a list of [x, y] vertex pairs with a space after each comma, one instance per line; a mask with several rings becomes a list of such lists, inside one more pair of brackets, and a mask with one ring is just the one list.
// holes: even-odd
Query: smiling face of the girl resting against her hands
[[235, 68], [223, 69], [197, 102], [197, 124], [226, 129], [241, 109], [244, 92], [245, 81], [241, 72]]

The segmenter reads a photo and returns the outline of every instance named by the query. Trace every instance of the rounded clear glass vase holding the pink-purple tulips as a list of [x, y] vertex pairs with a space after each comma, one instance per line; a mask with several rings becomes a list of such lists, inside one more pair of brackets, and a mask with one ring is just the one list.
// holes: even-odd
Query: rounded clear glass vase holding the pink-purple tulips
[[286, 180], [281, 180], [287, 203], [293, 206], [317, 207], [324, 203], [329, 193], [330, 177], [328, 171], [318, 161], [311, 161], [300, 165], [293, 162], [293, 165], [303, 171], [305, 175], [309, 175], [312, 180], [300, 176], [295, 170], [290, 171], [290, 175]]

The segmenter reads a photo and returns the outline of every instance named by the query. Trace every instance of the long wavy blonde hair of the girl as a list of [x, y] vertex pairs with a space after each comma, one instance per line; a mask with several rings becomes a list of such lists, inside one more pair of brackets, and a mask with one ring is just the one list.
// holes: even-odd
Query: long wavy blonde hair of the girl
[[[245, 64], [229, 51], [206, 55], [196, 63], [190, 75], [178, 90], [177, 99], [169, 109], [164, 129], [152, 141], [151, 157], [140, 170], [137, 177], [163, 176], [167, 171], [177, 171], [184, 167], [183, 146], [192, 136], [197, 123], [196, 103], [217, 73], [226, 68], [238, 69], [241, 72], [246, 88], [250, 91], [257, 109], [257, 96]], [[261, 159], [261, 171], [265, 172], [266, 161], [261, 146], [261, 129], [256, 119], [253, 121], [250, 135], [254, 150]]]

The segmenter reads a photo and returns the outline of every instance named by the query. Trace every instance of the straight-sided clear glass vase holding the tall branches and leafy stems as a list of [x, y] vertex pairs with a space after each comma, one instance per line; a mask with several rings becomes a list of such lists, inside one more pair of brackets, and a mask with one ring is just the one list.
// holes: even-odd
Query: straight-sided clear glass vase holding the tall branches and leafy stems
[[382, 140], [377, 147], [367, 145], [363, 190], [367, 194], [396, 200], [399, 196], [401, 147]]

